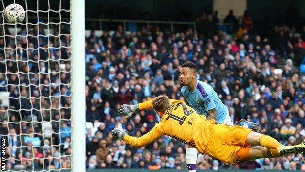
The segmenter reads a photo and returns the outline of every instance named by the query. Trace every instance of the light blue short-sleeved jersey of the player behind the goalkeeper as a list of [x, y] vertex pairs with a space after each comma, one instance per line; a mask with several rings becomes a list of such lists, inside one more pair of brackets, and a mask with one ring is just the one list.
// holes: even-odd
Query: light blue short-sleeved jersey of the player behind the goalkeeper
[[207, 116], [208, 110], [216, 108], [217, 123], [224, 122], [228, 109], [209, 84], [197, 79], [196, 87], [192, 92], [187, 86], [183, 86], [181, 93], [188, 105], [194, 108], [198, 114]]

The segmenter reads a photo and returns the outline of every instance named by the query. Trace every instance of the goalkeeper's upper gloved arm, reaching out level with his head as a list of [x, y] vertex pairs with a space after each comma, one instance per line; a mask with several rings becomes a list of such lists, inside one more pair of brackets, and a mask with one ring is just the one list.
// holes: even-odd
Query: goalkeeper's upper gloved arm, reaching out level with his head
[[[174, 99], [170, 99], [170, 102], [173, 102]], [[137, 103], [135, 105], [123, 104], [118, 110], [120, 115], [124, 115], [124, 118], [127, 120], [135, 113], [136, 110], [147, 110], [153, 109], [152, 100], [144, 101], [142, 103]]]

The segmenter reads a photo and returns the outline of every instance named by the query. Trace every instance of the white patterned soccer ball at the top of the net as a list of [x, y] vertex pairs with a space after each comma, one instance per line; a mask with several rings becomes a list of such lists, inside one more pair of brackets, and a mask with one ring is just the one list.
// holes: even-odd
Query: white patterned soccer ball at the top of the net
[[8, 23], [22, 22], [25, 17], [25, 11], [21, 5], [12, 3], [4, 10], [4, 18]]

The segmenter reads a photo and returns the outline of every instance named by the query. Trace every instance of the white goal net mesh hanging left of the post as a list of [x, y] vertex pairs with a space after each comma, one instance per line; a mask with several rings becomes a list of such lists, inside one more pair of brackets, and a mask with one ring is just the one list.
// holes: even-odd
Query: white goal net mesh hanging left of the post
[[[0, 137], [6, 167], [70, 169], [69, 0], [1, 0], [26, 11], [22, 23], [0, 22]], [[68, 20], [63, 20], [63, 19]]]

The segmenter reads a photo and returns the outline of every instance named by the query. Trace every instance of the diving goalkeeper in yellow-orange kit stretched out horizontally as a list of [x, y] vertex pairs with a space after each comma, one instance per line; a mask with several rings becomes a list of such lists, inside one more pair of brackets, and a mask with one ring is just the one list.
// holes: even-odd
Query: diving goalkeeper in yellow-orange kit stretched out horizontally
[[[204, 115], [198, 115], [184, 101], [170, 100], [167, 96], [159, 96], [140, 103], [139, 106], [140, 109], [151, 108], [157, 111], [161, 121], [139, 138], [127, 135], [120, 124], [112, 130], [114, 136], [135, 148], [148, 145], [162, 135], [168, 135], [196, 147], [201, 153], [230, 164], [300, 154], [305, 150], [305, 141], [296, 146], [284, 146], [274, 138], [252, 129], [217, 124], [214, 119], [206, 120]], [[120, 110], [129, 111], [126, 107]]]

